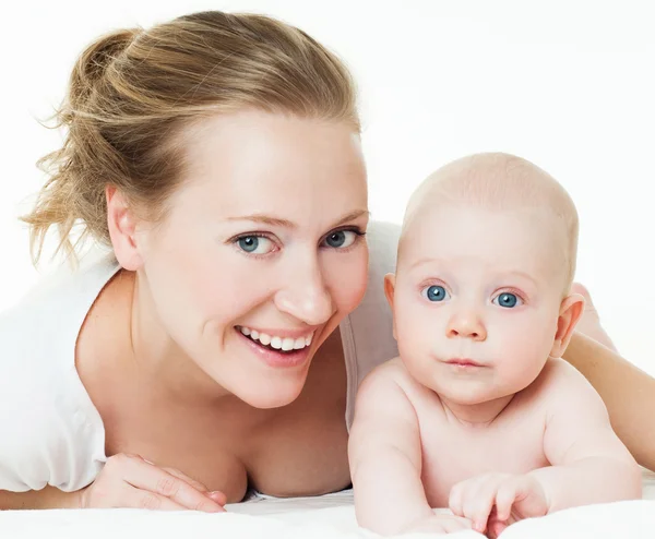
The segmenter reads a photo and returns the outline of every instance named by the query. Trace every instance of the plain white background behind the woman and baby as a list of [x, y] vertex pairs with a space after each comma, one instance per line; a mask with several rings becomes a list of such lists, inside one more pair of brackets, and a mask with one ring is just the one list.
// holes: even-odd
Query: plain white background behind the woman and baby
[[[534, 160], [581, 215], [577, 279], [623, 355], [655, 374], [655, 11], [607, 1], [12, 2], [0, 14], [0, 311], [39, 277], [16, 216], [60, 135], [37, 122], [98, 34], [187, 12], [258, 11], [300, 26], [359, 83], [374, 218], [400, 221], [410, 191], [480, 151]], [[46, 264], [41, 273], [50, 271]]]

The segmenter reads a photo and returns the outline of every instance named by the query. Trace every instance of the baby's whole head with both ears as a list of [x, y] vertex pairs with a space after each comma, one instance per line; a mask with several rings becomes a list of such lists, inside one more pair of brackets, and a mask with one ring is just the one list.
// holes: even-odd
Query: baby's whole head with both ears
[[573, 202], [532, 163], [478, 154], [437, 170], [409, 201], [385, 278], [412, 375], [462, 405], [527, 387], [582, 314], [576, 247]]

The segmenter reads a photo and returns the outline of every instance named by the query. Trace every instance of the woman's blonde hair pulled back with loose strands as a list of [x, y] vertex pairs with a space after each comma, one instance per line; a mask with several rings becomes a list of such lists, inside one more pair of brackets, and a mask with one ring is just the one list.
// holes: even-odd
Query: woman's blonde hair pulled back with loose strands
[[56, 115], [57, 127], [68, 129], [64, 143], [38, 161], [49, 179], [22, 217], [35, 264], [52, 226], [56, 252], [73, 260], [88, 236], [110, 244], [107, 185], [162, 218], [184, 166], [176, 135], [190, 123], [252, 107], [346, 121], [359, 131], [355, 94], [338, 58], [263, 15], [207, 11], [98, 38], [73, 69]]

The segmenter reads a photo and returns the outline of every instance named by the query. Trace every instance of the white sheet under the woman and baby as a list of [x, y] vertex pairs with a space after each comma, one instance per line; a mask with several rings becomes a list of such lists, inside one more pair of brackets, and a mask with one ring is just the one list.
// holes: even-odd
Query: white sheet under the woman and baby
[[[655, 474], [644, 471], [644, 500], [587, 505], [517, 523], [503, 539], [653, 539]], [[352, 491], [319, 498], [255, 498], [228, 505], [226, 514], [154, 513], [136, 510], [0, 512], [0, 536], [11, 539], [338, 538], [378, 537], [355, 522]], [[425, 537], [425, 536], [405, 536]], [[452, 539], [483, 539], [475, 531]]]

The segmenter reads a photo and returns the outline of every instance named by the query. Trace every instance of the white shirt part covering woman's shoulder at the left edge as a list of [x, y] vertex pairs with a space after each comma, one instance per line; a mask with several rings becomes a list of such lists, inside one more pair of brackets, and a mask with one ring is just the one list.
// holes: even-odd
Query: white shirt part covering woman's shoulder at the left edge
[[104, 458], [104, 430], [75, 370], [78, 334], [116, 272], [62, 268], [0, 315], [0, 490], [76, 490]]

